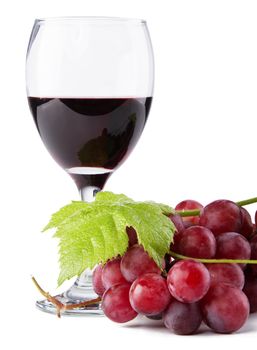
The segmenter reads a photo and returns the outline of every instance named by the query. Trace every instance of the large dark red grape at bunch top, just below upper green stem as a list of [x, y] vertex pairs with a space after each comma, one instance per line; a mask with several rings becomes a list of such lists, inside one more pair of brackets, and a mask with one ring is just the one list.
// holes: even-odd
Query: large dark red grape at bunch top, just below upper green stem
[[240, 208], [232, 201], [216, 200], [202, 209], [199, 224], [209, 228], [215, 236], [223, 232], [239, 232]]

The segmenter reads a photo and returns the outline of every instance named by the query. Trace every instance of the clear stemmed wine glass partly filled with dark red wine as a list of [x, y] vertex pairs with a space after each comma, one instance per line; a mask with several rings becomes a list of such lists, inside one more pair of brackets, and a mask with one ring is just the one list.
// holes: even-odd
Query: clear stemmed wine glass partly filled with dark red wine
[[[27, 95], [40, 137], [92, 201], [135, 147], [150, 110], [154, 62], [144, 20], [111, 17], [37, 19], [26, 60]], [[96, 297], [86, 270], [58, 296]], [[55, 307], [37, 302], [47, 312]], [[99, 314], [99, 305], [66, 311]]]

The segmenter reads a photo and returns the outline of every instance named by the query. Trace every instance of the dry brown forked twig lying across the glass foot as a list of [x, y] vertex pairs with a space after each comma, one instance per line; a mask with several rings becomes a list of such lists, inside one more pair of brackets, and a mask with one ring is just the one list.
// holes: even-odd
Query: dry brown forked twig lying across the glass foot
[[85, 307], [88, 305], [92, 305], [92, 304], [97, 304], [101, 302], [101, 298], [95, 298], [92, 300], [85, 300], [82, 301], [80, 303], [77, 304], [64, 304], [62, 302], [60, 302], [58, 299], [56, 299], [55, 297], [53, 297], [51, 294], [49, 294], [48, 292], [44, 291], [44, 289], [39, 285], [39, 283], [37, 282], [37, 280], [35, 279], [35, 277], [32, 277], [32, 281], [35, 284], [35, 286], [37, 287], [37, 289], [39, 290], [39, 292], [49, 301], [51, 302], [53, 305], [55, 305], [56, 307], [56, 314], [57, 316], [60, 318], [61, 317], [61, 313], [64, 312], [65, 310], [73, 310], [73, 309], [77, 309], [80, 307]]

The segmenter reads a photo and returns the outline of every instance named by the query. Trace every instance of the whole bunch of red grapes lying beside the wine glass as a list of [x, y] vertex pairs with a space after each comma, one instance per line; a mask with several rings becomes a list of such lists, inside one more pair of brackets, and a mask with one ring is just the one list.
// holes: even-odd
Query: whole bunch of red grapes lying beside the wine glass
[[[194, 209], [199, 215], [181, 215]], [[217, 333], [237, 331], [257, 311], [257, 265], [237, 263], [257, 259], [257, 212], [253, 224], [249, 212], [232, 201], [203, 207], [186, 200], [169, 218], [176, 231], [162, 268], [132, 227], [127, 252], [95, 268], [93, 287], [104, 314], [118, 323], [138, 314], [163, 320], [181, 335], [196, 333], [202, 322]]]

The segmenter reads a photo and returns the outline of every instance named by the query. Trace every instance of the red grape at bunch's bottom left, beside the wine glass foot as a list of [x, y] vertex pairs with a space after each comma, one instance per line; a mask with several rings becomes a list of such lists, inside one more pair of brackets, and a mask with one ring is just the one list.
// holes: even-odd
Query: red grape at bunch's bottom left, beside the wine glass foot
[[129, 302], [130, 283], [116, 284], [103, 295], [102, 310], [114, 322], [124, 323], [133, 320], [137, 312]]

